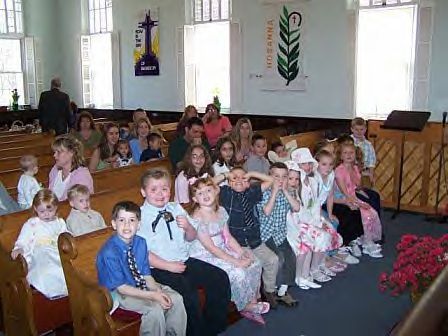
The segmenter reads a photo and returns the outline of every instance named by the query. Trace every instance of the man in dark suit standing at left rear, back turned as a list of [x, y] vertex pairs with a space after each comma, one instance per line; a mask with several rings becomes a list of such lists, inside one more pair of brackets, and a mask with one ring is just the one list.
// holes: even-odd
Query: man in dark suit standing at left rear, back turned
[[67, 133], [70, 121], [70, 98], [61, 90], [61, 80], [51, 80], [51, 90], [44, 91], [39, 99], [39, 120], [42, 131], [54, 130], [56, 135]]

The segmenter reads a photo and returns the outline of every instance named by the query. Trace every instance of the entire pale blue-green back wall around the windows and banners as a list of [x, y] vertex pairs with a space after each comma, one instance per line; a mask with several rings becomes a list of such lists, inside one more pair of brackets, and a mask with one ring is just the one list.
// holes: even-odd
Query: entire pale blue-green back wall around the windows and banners
[[[34, 0], [27, 0], [34, 1]], [[61, 64], [64, 88], [81, 103], [79, 35], [82, 32], [81, 0], [57, 2], [59, 47], [48, 55], [50, 64]], [[84, 0], [83, 0], [84, 1]], [[120, 35], [121, 90], [124, 108], [153, 110], [182, 109], [177, 88], [176, 29], [184, 22], [185, 0], [114, 0], [114, 30]], [[40, 2], [40, 1], [39, 1]], [[264, 51], [263, 8], [260, 0], [233, 0], [233, 19], [241, 24], [243, 40], [242, 111], [247, 114], [278, 114], [328, 118], [353, 115], [352, 31], [346, 0], [311, 0], [306, 26], [305, 92], [266, 92], [260, 80]], [[448, 109], [448, 1], [435, 0], [435, 22], [431, 60], [429, 109], [433, 120]], [[141, 10], [158, 7], [160, 19], [160, 76], [135, 77], [133, 70], [133, 30]], [[50, 13], [54, 13], [50, 10]], [[53, 15], [53, 14], [52, 14]], [[48, 29], [47, 29], [48, 30]], [[51, 48], [51, 45], [50, 45]], [[51, 54], [51, 52], [48, 52]], [[51, 67], [50, 67], [51, 68]], [[56, 69], [57, 70], [57, 69]], [[49, 76], [51, 77], [51, 76]]]

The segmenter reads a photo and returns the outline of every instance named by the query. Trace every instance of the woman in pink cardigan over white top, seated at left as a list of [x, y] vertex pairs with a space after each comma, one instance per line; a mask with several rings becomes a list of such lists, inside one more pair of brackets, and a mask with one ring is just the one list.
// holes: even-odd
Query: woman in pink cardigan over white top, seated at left
[[89, 170], [84, 166], [82, 144], [73, 136], [57, 137], [53, 145], [55, 165], [50, 171], [50, 190], [59, 201], [67, 199], [67, 190], [75, 184], [82, 184], [93, 194], [93, 179]]

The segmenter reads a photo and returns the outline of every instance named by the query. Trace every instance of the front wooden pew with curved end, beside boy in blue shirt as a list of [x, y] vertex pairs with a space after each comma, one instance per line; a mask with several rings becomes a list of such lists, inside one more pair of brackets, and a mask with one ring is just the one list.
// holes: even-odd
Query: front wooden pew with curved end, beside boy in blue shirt
[[59, 237], [75, 336], [139, 334], [140, 316], [131, 313], [127, 321], [117, 317], [119, 311], [111, 316], [110, 294], [98, 284], [96, 256], [113, 232], [107, 228], [76, 238], [69, 233]]

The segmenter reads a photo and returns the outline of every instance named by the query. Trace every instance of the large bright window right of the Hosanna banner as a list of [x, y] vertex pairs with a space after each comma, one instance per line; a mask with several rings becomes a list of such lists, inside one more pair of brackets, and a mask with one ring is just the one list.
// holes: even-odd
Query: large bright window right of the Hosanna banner
[[355, 101], [358, 116], [384, 119], [392, 110], [412, 109], [417, 6], [410, 3], [360, 1]]

